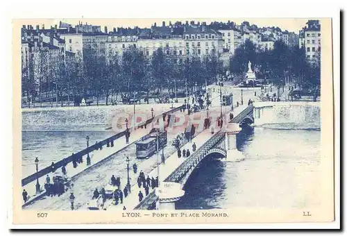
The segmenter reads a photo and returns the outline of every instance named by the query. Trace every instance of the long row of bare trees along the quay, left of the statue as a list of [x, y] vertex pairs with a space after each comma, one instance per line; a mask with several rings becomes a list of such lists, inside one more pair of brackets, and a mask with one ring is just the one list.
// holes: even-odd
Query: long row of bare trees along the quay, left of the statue
[[[201, 87], [212, 83], [221, 73], [222, 63], [217, 56], [204, 58], [167, 55], [158, 49], [151, 58], [130, 47], [122, 53], [105, 55], [96, 45], [85, 47], [73, 58], [52, 58], [49, 51], [31, 53], [28, 66], [22, 63], [22, 94], [28, 101], [45, 101], [40, 94], [55, 92], [55, 100], [63, 103], [94, 96], [96, 103], [110, 96], [174, 96], [178, 90]], [[34, 58], [35, 57], [35, 58]], [[28, 73], [29, 71], [29, 73]], [[29, 103], [30, 106], [30, 103]], [[57, 105], [58, 106], [58, 105]]]

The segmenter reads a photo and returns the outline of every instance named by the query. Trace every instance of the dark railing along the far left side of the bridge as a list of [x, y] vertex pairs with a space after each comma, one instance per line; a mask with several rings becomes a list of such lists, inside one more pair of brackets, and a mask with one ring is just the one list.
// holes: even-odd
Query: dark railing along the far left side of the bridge
[[[183, 106], [179, 106], [178, 108], [174, 108], [174, 109], [171, 109], [167, 112], [163, 112], [161, 115], [169, 115], [171, 113], [174, 113], [174, 112], [180, 110], [180, 108], [182, 108], [182, 107]], [[151, 124], [153, 119], [155, 119], [155, 117], [152, 117], [151, 119], [147, 119], [142, 124], [138, 124], [137, 128], [144, 126], [144, 124]], [[78, 157], [81, 157], [83, 155], [87, 155], [87, 153], [91, 153], [92, 151], [99, 149], [100, 146], [105, 146], [108, 142], [115, 141], [115, 140], [119, 139], [120, 137], [123, 137], [125, 134], [126, 134], [126, 130], [121, 131], [120, 133], [112, 135], [111, 137], [108, 137], [107, 139], [102, 140], [101, 142], [98, 142], [97, 144], [93, 144], [93, 145], [89, 146], [88, 148], [83, 149], [82, 151], [79, 151], [78, 153], [74, 153], [74, 155], [69, 155], [67, 158], [64, 158], [58, 162], [55, 162], [54, 163], [54, 169], [58, 169], [58, 168], [62, 167], [63, 165], [67, 165], [67, 164], [69, 164], [69, 162], [72, 162], [72, 160], [74, 160]], [[49, 167], [45, 167], [44, 169], [40, 169], [40, 171], [37, 171], [37, 173], [31, 174], [30, 176], [23, 178], [22, 179], [22, 187], [27, 185], [28, 183], [35, 181], [37, 178], [40, 178], [42, 176], [45, 176], [46, 174], [51, 173], [51, 171], [52, 171], [52, 168], [51, 168], [51, 166], [49, 166]]]

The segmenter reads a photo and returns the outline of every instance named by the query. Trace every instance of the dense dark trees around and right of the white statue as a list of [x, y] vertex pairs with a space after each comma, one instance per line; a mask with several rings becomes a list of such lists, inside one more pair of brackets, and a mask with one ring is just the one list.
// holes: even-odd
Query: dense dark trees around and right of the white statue
[[304, 47], [301, 49], [298, 46], [289, 47], [281, 41], [276, 41], [273, 50], [260, 51], [250, 40], [247, 40], [230, 58], [230, 72], [234, 78], [244, 77], [248, 61], [252, 62], [252, 69], [257, 78], [270, 79], [275, 85], [290, 81], [301, 89], [320, 90], [319, 50], [315, 60], [308, 60]]

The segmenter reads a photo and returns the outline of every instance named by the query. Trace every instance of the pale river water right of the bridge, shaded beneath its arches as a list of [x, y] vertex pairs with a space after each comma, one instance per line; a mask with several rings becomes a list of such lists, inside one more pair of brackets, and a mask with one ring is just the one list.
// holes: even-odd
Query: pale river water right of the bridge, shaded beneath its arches
[[320, 183], [321, 132], [293, 128], [278, 124], [242, 130], [237, 149], [245, 160], [203, 162], [189, 178], [176, 209], [319, 205], [319, 193], [307, 186]]

